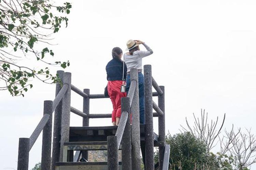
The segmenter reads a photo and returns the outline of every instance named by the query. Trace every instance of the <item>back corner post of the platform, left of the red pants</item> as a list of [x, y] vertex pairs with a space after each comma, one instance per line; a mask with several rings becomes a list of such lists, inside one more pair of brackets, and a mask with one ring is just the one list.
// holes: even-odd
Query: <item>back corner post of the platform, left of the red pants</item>
[[[84, 89], [84, 93], [90, 95], [90, 89]], [[83, 112], [89, 116], [90, 113], [90, 98], [83, 99]], [[89, 118], [83, 118], [83, 126], [89, 126]], [[82, 151], [82, 157], [88, 159], [88, 151]]]

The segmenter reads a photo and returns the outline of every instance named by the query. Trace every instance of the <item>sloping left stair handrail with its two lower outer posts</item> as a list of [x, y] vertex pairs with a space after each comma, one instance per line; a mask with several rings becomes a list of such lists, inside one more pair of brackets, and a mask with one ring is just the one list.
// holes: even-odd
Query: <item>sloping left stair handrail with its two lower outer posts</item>
[[29, 163], [29, 151], [33, 147], [35, 141], [37, 140], [40, 133], [43, 131], [43, 141], [42, 141], [42, 158], [41, 158], [41, 168], [51, 169], [51, 145], [52, 145], [52, 113], [60, 103], [61, 99], [67, 93], [70, 84], [65, 81], [70, 73], [64, 73], [63, 71], [58, 71], [63, 76], [63, 87], [60, 84], [57, 85], [59, 92], [56, 95], [54, 101], [44, 101], [44, 112], [41, 121], [38, 123], [37, 127], [31, 134], [30, 138], [19, 138], [19, 148], [18, 148], [18, 170], [27, 170]]

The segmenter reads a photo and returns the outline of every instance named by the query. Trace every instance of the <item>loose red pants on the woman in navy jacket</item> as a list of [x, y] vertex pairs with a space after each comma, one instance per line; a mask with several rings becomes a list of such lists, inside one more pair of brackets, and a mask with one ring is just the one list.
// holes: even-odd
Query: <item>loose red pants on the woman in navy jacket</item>
[[120, 80], [108, 82], [108, 93], [113, 104], [112, 122], [116, 122], [116, 118], [121, 117], [121, 98], [126, 97], [126, 92], [120, 92], [121, 85], [122, 81]]

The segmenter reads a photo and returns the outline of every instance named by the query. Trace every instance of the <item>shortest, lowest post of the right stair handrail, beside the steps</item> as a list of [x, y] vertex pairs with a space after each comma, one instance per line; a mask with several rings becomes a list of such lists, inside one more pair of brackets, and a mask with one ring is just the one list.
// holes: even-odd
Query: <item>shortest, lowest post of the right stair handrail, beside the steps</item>
[[117, 137], [108, 136], [107, 141], [108, 141], [108, 170], [118, 170]]

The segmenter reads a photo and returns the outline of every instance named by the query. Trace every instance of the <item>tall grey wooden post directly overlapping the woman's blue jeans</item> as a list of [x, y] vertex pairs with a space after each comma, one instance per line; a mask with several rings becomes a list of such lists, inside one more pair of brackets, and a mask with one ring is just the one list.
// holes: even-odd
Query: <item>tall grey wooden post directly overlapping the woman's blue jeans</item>
[[[131, 69], [131, 83], [134, 83], [134, 93], [131, 99], [131, 160], [132, 169], [141, 169], [140, 159], [140, 107], [139, 107], [139, 84], [138, 82], [138, 69]], [[132, 85], [132, 84], [131, 84]], [[130, 86], [131, 87], [131, 86]], [[129, 89], [130, 92], [131, 88]], [[129, 95], [129, 94], [128, 94]], [[129, 97], [129, 96], [128, 96]]]

